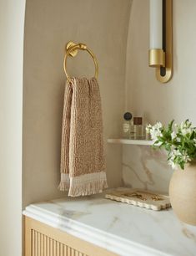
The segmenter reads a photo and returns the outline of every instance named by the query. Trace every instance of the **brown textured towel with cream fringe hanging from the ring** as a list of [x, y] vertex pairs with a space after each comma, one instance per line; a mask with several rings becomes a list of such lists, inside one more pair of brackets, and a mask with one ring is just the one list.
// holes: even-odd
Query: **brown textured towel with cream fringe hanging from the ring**
[[97, 79], [72, 78], [65, 87], [59, 189], [78, 197], [107, 186], [101, 98]]

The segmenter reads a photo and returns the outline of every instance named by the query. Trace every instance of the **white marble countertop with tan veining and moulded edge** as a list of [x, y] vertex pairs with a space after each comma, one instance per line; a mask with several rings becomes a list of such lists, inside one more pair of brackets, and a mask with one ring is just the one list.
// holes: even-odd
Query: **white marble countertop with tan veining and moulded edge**
[[119, 255], [196, 255], [196, 227], [171, 208], [156, 212], [99, 194], [35, 203], [23, 214]]

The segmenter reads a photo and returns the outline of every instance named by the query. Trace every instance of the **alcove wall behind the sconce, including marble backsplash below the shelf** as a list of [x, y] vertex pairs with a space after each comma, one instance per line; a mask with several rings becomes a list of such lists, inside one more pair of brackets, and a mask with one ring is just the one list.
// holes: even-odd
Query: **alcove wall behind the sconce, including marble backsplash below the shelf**
[[[187, 118], [196, 125], [196, 2], [173, 0], [173, 78], [161, 84], [148, 67], [149, 2], [133, 0], [127, 43], [125, 109], [145, 122], [167, 124]], [[168, 192], [172, 175], [163, 152], [148, 146], [123, 147], [126, 186]]]

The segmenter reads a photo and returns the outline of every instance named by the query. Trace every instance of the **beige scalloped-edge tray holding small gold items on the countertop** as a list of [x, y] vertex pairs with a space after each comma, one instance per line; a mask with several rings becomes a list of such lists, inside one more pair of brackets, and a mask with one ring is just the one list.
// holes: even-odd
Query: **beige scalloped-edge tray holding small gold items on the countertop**
[[171, 207], [168, 196], [141, 189], [117, 188], [108, 192], [105, 198], [152, 209], [154, 211]]

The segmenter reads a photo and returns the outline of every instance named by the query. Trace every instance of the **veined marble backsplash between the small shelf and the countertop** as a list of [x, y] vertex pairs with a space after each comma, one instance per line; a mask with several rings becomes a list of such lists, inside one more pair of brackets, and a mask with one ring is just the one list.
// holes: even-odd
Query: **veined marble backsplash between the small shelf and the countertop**
[[[168, 194], [173, 170], [164, 151], [151, 146], [123, 146], [123, 185]], [[196, 253], [195, 253], [196, 254]]]

